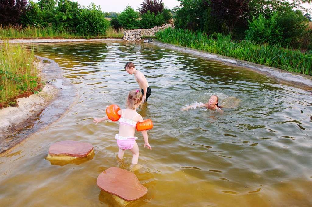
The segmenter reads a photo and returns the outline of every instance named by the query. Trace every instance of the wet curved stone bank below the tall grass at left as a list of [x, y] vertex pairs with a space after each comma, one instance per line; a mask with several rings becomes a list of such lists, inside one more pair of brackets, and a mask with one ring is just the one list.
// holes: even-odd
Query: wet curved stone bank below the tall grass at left
[[41, 79], [46, 85], [39, 94], [19, 98], [18, 107], [0, 110], [0, 154], [61, 119], [78, 102], [78, 91], [62, 76], [59, 65], [36, 57], [40, 59]]

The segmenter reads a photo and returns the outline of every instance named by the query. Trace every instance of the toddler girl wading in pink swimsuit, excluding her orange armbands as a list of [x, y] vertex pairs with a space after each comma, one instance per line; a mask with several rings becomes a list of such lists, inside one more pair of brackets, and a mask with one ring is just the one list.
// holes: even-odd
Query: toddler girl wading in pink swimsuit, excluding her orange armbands
[[[119, 110], [117, 113], [121, 117], [119, 118], [119, 133], [115, 135], [115, 139], [117, 139], [117, 145], [119, 147], [118, 158], [122, 160], [124, 158], [124, 152], [126, 149], [129, 149], [132, 153], [132, 164], [138, 164], [139, 160], [139, 147], [136, 143], [137, 137], [134, 136], [135, 127], [138, 122], [142, 122], [143, 118], [138, 114], [136, 109], [142, 104], [142, 92], [140, 90], [132, 90], [129, 92], [126, 108]], [[99, 119], [94, 119], [93, 122], [97, 123], [108, 120], [108, 116], [104, 116]], [[149, 138], [147, 131], [142, 131], [142, 135], [144, 138], [144, 148], [152, 149], [149, 145]]]

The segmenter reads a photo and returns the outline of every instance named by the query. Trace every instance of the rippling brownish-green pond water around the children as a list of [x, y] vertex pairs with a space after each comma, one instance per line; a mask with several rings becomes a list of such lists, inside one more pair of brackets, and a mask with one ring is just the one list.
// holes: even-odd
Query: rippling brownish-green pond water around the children
[[[0, 158], [1, 206], [117, 206], [96, 184], [109, 167], [131, 170], [132, 154], [118, 162], [118, 123], [92, 120], [106, 105], [124, 108], [134, 76], [152, 95], [138, 112], [151, 119], [152, 150], [139, 137], [139, 169], [148, 193], [129, 206], [312, 206], [312, 96], [244, 68], [158, 46], [131, 42], [32, 45], [53, 59], [80, 94], [69, 113]], [[219, 96], [222, 112], [184, 106]], [[95, 154], [76, 162], [46, 160], [63, 140], [91, 143]]]

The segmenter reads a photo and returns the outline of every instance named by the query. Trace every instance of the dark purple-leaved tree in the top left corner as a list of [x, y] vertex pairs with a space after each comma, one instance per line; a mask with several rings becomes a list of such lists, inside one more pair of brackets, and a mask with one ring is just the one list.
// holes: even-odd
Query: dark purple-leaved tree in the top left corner
[[27, 0], [0, 0], [0, 24], [19, 24], [21, 15], [26, 12]]

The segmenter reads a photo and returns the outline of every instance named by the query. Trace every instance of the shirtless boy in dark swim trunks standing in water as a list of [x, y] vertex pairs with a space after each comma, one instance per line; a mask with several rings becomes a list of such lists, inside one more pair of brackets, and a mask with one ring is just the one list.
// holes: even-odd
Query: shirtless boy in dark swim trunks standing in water
[[138, 71], [137, 69], [135, 69], [134, 64], [131, 62], [126, 63], [126, 65], [124, 66], [124, 69], [130, 75], [134, 74], [134, 78], [135, 78], [136, 82], [138, 82], [139, 87], [140, 87], [142, 94], [143, 94], [142, 102], [143, 103], [146, 102], [147, 99], [149, 98], [149, 96], [151, 95], [152, 90], [149, 87], [149, 83], [147, 82], [144, 74], [141, 73], [140, 71]]

